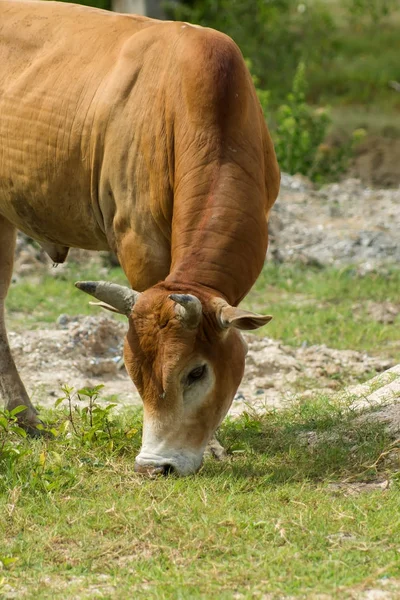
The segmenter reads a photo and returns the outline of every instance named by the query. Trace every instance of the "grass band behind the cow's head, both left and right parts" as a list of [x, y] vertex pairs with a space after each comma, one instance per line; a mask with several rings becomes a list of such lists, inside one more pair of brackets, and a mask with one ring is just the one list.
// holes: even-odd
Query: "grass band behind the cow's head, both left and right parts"
[[[121, 269], [104, 276], [95, 267], [82, 271], [74, 264], [60, 277], [45, 275], [39, 283], [22, 280], [7, 298], [9, 327], [48, 326], [61, 313], [96, 314], [73, 282], [104, 277], [126, 283]], [[387, 325], [374, 321], [367, 302], [399, 303], [399, 289], [400, 270], [394, 268], [360, 276], [352, 268], [268, 263], [243, 306], [272, 314], [273, 321], [260, 333], [286, 344], [326, 344], [398, 359], [400, 318]]]

